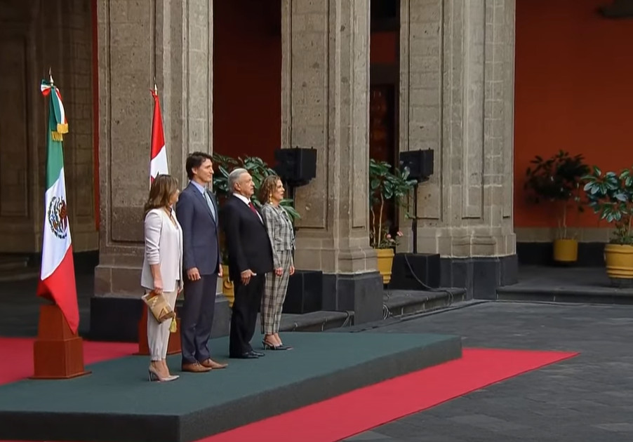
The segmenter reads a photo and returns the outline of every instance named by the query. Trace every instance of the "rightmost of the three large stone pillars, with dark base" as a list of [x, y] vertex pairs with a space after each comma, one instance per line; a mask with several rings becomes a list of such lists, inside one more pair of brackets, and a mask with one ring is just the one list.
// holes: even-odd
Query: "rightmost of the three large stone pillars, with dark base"
[[435, 151], [418, 189], [418, 251], [441, 254], [443, 286], [493, 296], [517, 274], [514, 0], [403, 1], [401, 20], [400, 149]]

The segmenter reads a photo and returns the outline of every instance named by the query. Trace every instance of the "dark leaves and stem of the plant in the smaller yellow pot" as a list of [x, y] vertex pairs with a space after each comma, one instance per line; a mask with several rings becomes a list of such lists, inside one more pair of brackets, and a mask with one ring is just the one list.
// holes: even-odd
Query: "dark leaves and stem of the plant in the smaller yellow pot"
[[532, 166], [526, 170], [524, 189], [531, 203], [542, 201], [559, 206], [558, 225], [562, 238], [567, 237], [567, 210], [572, 205], [578, 212], [582, 212], [580, 185], [582, 177], [589, 173], [589, 167], [584, 163], [582, 155], [571, 156], [563, 150], [543, 159], [535, 156]]

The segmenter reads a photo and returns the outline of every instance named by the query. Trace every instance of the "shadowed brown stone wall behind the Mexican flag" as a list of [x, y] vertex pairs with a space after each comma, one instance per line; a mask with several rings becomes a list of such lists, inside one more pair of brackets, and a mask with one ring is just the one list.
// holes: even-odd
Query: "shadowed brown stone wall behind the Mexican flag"
[[98, 248], [91, 5], [81, 0], [0, 5], [0, 253], [41, 250], [48, 101], [39, 83], [49, 67], [69, 121], [64, 153], [73, 248]]

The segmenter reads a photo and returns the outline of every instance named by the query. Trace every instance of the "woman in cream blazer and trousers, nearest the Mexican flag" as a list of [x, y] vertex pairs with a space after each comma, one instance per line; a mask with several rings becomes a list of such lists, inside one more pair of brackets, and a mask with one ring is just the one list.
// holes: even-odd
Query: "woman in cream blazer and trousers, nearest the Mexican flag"
[[[173, 205], [178, 201], [178, 181], [171, 175], [159, 175], [149, 189], [145, 203], [145, 254], [141, 286], [147, 292], [162, 293], [173, 309], [182, 290], [182, 229]], [[159, 323], [147, 315], [147, 342], [151, 362], [149, 380], [178, 379], [167, 367], [167, 344], [171, 321]]]

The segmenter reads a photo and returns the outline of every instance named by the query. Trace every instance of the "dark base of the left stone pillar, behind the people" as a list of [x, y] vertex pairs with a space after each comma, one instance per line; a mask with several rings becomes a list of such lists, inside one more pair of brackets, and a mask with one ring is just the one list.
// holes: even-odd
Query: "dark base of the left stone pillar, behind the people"
[[[90, 300], [90, 332], [92, 341], [139, 342], [139, 321], [143, 312], [140, 297], [93, 296]], [[176, 311], [182, 300], [176, 301]], [[229, 334], [231, 309], [227, 298], [215, 298], [215, 315], [211, 337]]]

